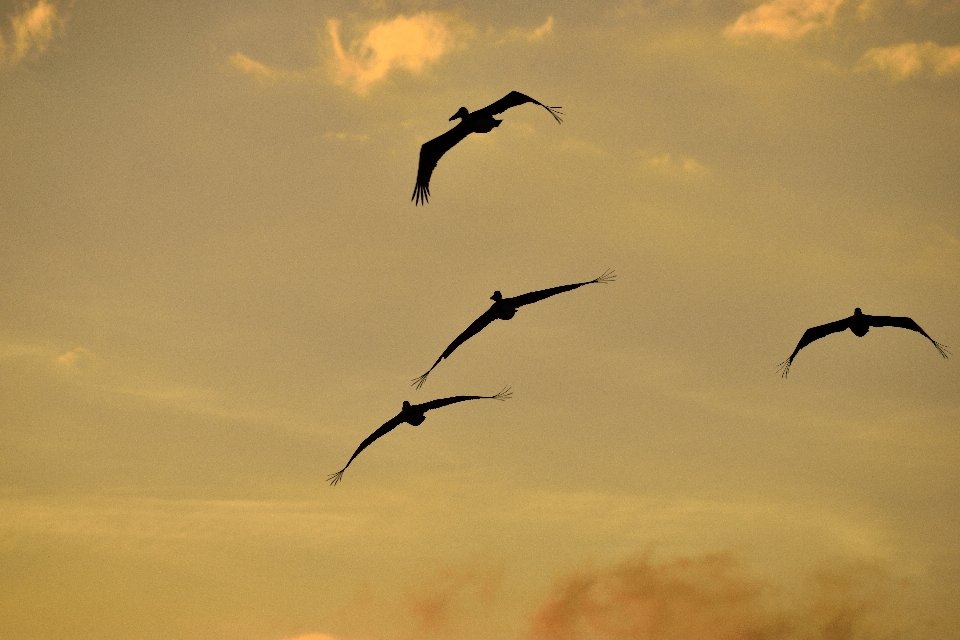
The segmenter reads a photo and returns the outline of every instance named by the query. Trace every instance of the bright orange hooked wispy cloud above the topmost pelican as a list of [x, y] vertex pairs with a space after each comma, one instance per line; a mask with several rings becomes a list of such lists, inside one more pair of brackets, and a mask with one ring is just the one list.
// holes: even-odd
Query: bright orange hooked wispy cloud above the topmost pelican
[[444, 14], [422, 12], [379, 22], [367, 34], [344, 48], [340, 21], [327, 21], [333, 46], [335, 81], [365, 94], [370, 86], [394, 69], [414, 75], [438, 60], [456, 45], [451, 20]]

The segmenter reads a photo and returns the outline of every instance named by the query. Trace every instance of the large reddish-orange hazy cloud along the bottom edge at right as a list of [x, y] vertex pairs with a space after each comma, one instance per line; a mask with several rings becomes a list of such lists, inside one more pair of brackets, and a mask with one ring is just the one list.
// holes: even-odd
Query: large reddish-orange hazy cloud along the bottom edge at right
[[567, 578], [534, 616], [532, 640], [899, 637], [897, 586], [876, 565], [832, 569], [807, 581], [795, 602], [733, 556], [655, 563], [649, 558]]

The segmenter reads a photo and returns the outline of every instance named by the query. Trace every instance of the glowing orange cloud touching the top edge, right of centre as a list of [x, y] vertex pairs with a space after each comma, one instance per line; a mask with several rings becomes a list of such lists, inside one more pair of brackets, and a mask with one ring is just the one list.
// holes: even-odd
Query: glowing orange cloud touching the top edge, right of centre
[[747, 11], [724, 29], [728, 38], [762, 35], [796, 40], [833, 23], [843, 0], [772, 0]]

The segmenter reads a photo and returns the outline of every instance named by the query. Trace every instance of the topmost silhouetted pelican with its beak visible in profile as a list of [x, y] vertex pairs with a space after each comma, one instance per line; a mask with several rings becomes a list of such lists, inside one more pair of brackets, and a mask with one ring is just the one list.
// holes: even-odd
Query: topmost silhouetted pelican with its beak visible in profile
[[503, 120], [497, 120], [493, 116], [503, 113], [510, 107], [515, 107], [527, 102], [539, 104], [550, 112], [554, 120], [558, 123], [563, 122], [560, 119], [563, 113], [557, 111], [557, 109], [562, 109], [563, 107], [548, 107], [530, 96], [523, 95], [519, 91], [511, 91], [493, 104], [487, 105], [483, 109], [477, 109], [473, 113], [467, 111], [466, 107], [460, 107], [455, 114], [450, 116], [451, 121], [460, 118], [457, 126], [446, 133], [440, 134], [433, 140], [423, 143], [423, 146], [420, 147], [420, 167], [417, 169], [417, 186], [414, 187], [413, 196], [410, 198], [414, 201], [414, 204], [420, 204], [421, 202], [426, 204], [429, 200], [430, 176], [433, 174], [433, 170], [437, 168], [437, 163], [443, 154], [471, 133], [490, 133], [503, 122]]

